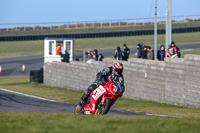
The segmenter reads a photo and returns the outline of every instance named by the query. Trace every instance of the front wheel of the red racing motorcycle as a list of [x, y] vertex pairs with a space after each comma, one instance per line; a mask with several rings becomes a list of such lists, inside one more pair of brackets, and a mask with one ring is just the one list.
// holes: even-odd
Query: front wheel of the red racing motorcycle
[[108, 111], [110, 110], [110, 107], [112, 106], [112, 100], [107, 98], [105, 100], [105, 103], [101, 104], [99, 103], [98, 104], [98, 108], [97, 108], [97, 111], [95, 112], [96, 115], [99, 115], [99, 114], [107, 114]]

